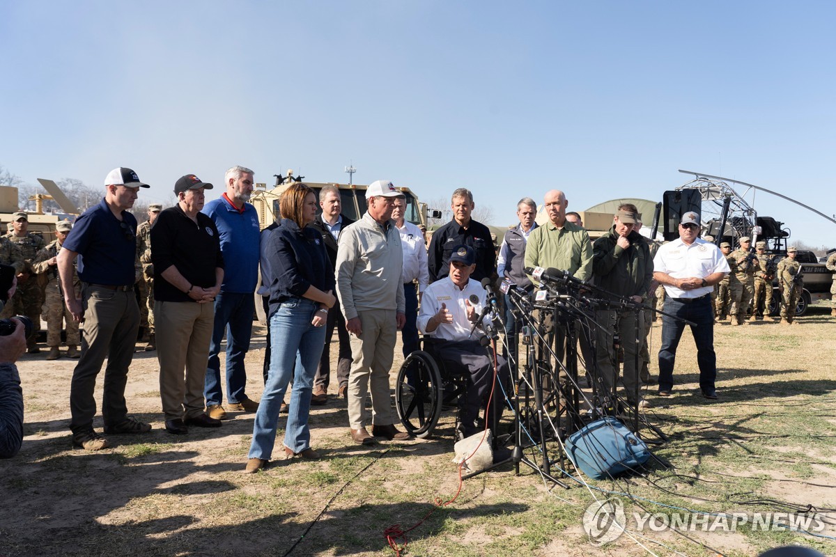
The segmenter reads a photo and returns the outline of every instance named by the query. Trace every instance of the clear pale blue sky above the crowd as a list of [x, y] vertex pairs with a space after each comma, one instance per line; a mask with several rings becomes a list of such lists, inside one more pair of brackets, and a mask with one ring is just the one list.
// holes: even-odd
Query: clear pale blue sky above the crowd
[[[0, 0], [0, 165], [168, 200], [194, 172], [466, 186], [497, 222], [724, 175], [830, 215], [832, 2]], [[220, 195], [215, 190], [214, 195]], [[751, 200], [751, 199], [750, 199]], [[758, 194], [793, 236], [836, 225]]]

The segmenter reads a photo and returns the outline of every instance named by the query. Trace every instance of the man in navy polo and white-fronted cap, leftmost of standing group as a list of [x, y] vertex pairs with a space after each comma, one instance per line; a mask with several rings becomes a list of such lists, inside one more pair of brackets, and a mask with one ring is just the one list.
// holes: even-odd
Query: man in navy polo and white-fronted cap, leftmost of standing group
[[[128, 416], [125, 383], [133, 360], [140, 306], [134, 294], [136, 218], [129, 210], [137, 192], [149, 185], [129, 168], [110, 170], [104, 179], [104, 198], [79, 216], [73, 233], [58, 256], [61, 287], [73, 319], [84, 322], [81, 358], [73, 371], [69, 391], [69, 428], [75, 447], [89, 451], [110, 443], [93, 429], [96, 376], [104, 358], [102, 418], [104, 433], [146, 433], [149, 423]], [[74, 292], [74, 261], [79, 257], [81, 298]]]

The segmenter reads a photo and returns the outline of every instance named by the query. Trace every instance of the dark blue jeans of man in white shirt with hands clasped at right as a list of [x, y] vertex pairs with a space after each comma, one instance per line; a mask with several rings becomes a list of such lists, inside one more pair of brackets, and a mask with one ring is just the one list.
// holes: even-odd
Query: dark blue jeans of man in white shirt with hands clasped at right
[[[713, 391], [717, 377], [717, 357], [714, 353], [714, 312], [711, 296], [703, 296], [691, 302], [665, 298], [665, 313], [696, 323], [691, 327], [696, 343], [696, 363], [700, 367], [700, 388]], [[674, 386], [674, 362], [686, 324], [669, 316], [662, 316], [662, 347], [659, 350], [659, 388], [670, 390]]]

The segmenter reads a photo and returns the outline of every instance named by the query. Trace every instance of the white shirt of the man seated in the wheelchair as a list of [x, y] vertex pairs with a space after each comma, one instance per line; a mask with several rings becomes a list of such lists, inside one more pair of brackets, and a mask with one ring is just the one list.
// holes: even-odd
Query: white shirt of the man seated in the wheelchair
[[[485, 334], [477, 329], [471, 337], [470, 330], [473, 323], [467, 321], [467, 306], [465, 300], [469, 300], [477, 314], [482, 313], [485, 306], [485, 289], [477, 281], [469, 280], [467, 285], [460, 289], [453, 284], [449, 276], [440, 281], [433, 282], [427, 286], [424, 297], [421, 298], [421, 313], [418, 314], [418, 330], [422, 333], [432, 335], [436, 338], [443, 338], [447, 341], [466, 341], [467, 339], [478, 339]], [[433, 332], [427, 332], [426, 324], [430, 318], [441, 311], [441, 304], [444, 304], [447, 311], [453, 316], [452, 323], [441, 323]], [[486, 316], [487, 321], [490, 315]]]

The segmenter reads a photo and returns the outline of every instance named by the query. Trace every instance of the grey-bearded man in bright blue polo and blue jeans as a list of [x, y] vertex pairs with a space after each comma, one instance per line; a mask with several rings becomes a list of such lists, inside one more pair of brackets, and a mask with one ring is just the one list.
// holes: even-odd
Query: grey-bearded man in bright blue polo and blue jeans
[[247, 371], [244, 357], [250, 349], [252, 313], [258, 281], [258, 246], [261, 227], [255, 207], [247, 203], [252, 194], [252, 170], [233, 166], [224, 176], [227, 191], [221, 199], [206, 203], [201, 212], [215, 221], [221, 235], [224, 276], [221, 291], [215, 298], [215, 325], [206, 365], [206, 412], [222, 420], [221, 341], [227, 337], [227, 408], [255, 412], [258, 403], [247, 397]]

